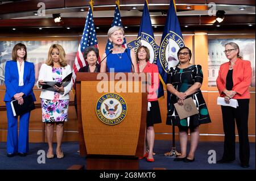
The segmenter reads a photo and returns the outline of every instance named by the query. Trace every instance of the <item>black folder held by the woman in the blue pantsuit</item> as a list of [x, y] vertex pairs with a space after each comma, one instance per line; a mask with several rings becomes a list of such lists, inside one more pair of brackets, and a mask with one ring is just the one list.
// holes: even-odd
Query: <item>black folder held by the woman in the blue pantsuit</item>
[[18, 100], [13, 100], [11, 102], [11, 108], [14, 116], [19, 116], [23, 113], [35, 110], [35, 103], [32, 95], [24, 96], [22, 105], [19, 105]]

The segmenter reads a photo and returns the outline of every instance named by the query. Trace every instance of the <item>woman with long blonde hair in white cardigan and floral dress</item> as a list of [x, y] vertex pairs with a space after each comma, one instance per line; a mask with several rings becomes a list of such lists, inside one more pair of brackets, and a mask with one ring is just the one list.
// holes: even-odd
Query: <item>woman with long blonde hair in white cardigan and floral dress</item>
[[[71, 66], [67, 64], [65, 59], [65, 51], [59, 44], [53, 44], [49, 48], [48, 59], [46, 64], [41, 66], [39, 78], [36, 85], [39, 88], [45, 84], [44, 82], [61, 82], [63, 78], [72, 73]], [[72, 89], [72, 81], [65, 87], [54, 86], [55, 91], [42, 90], [40, 94], [42, 103], [43, 122], [46, 123], [46, 136], [48, 141], [47, 158], [53, 158], [53, 131], [56, 123], [56, 156], [63, 158], [64, 154], [61, 150], [61, 141], [64, 133], [64, 121], [68, 120], [68, 104], [69, 91]]]

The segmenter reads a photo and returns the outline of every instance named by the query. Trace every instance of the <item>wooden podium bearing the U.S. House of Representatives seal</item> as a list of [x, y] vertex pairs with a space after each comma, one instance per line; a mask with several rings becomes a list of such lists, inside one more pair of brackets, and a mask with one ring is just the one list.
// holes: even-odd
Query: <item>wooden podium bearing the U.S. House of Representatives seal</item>
[[146, 74], [76, 76], [79, 145], [86, 169], [139, 169], [146, 131]]

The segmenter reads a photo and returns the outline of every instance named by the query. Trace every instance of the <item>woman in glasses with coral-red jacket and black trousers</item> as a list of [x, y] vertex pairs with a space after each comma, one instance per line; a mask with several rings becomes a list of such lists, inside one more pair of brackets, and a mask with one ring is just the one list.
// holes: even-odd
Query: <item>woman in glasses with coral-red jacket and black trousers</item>
[[220, 96], [227, 104], [236, 99], [238, 107], [221, 106], [223, 128], [225, 133], [224, 153], [217, 163], [229, 163], [236, 159], [235, 119], [239, 135], [240, 161], [244, 168], [249, 167], [250, 148], [248, 139], [248, 115], [251, 84], [251, 63], [242, 60], [240, 49], [236, 43], [225, 44], [226, 57], [229, 62], [220, 66], [217, 87]]

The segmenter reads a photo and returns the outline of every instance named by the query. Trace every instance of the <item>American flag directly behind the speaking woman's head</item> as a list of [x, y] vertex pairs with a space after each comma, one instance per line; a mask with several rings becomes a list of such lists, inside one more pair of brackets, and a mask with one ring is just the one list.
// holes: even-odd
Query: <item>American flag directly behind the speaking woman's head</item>
[[[113, 26], [123, 27], [122, 20], [121, 20], [121, 15], [120, 15], [120, 11], [119, 11], [119, 1], [117, 1], [115, 3], [116, 3], [115, 13], [114, 13], [114, 19], [113, 19], [113, 22], [111, 24], [111, 27], [113, 27]], [[123, 39], [123, 47], [127, 47], [125, 38]], [[108, 43], [106, 44], [106, 50], [110, 50], [112, 48], [113, 48], [113, 45], [112, 45], [112, 43], [110, 43], [110, 41], [108, 39]]]

